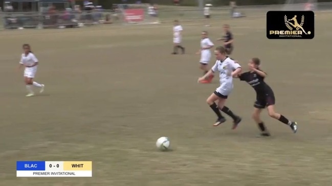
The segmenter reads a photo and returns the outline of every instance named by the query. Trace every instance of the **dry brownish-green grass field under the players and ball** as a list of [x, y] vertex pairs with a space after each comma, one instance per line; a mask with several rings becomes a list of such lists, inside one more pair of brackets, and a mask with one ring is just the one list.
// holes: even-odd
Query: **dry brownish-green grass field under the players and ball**
[[[178, 56], [167, 24], [0, 32], [0, 185], [330, 185], [331, 15], [316, 16], [313, 40], [268, 40], [264, 17], [187, 23], [187, 54]], [[218, 81], [196, 83], [194, 54], [202, 30], [218, 45], [223, 23], [236, 38], [233, 58], [244, 67], [261, 58], [276, 109], [298, 121], [297, 134], [264, 112], [273, 137], [255, 138], [254, 90], [238, 81], [227, 105], [241, 125], [212, 127], [205, 100]], [[23, 43], [40, 61], [35, 80], [46, 84], [31, 98], [15, 71]], [[173, 151], [156, 150], [161, 136]], [[19, 160], [93, 161], [93, 177], [16, 178]]]

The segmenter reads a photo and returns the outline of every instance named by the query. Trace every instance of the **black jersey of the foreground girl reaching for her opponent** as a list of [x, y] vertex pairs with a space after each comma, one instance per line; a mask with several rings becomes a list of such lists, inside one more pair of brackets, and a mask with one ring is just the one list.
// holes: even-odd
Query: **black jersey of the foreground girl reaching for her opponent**
[[264, 77], [260, 76], [256, 72], [245, 72], [239, 74], [239, 78], [241, 81], [246, 81], [249, 85], [251, 85], [257, 95], [267, 95], [273, 93], [271, 87], [264, 82]]

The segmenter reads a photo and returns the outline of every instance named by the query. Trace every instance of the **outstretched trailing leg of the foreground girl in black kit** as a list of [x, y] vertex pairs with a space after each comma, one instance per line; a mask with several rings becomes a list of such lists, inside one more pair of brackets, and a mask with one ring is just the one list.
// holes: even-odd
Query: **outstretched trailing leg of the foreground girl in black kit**
[[279, 120], [280, 122], [282, 122], [286, 125], [289, 125], [292, 128], [293, 132], [296, 133], [297, 123], [293, 122], [293, 121], [287, 119], [286, 117], [284, 117], [283, 115], [275, 112], [275, 110], [274, 110], [274, 105], [275, 105], [274, 95], [272, 94], [272, 95], [266, 97], [265, 100], [266, 100], [266, 103], [267, 103], [266, 105], [267, 105], [267, 108], [268, 108], [269, 116]]

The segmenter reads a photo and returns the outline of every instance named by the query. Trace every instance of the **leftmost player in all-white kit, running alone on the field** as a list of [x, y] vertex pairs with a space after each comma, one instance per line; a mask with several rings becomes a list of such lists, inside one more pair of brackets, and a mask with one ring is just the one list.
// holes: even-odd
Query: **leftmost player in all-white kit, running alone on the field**
[[27, 97], [34, 96], [34, 92], [32, 90], [32, 86], [40, 88], [39, 92], [42, 93], [44, 91], [45, 85], [39, 84], [33, 81], [35, 74], [37, 72], [38, 60], [34, 54], [31, 52], [31, 47], [29, 44], [23, 45], [24, 53], [21, 55], [21, 59], [19, 61], [19, 67], [25, 66], [24, 69], [24, 81], [26, 83], [26, 88], [28, 91]]

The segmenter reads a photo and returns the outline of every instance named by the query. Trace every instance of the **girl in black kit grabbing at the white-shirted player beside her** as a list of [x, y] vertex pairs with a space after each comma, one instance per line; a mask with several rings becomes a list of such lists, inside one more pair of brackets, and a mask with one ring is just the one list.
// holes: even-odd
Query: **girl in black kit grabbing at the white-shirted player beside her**
[[265, 127], [264, 123], [260, 120], [260, 113], [262, 109], [267, 108], [269, 116], [275, 118], [282, 123], [289, 125], [293, 132], [297, 131], [297, 123], [288, 120], [283, 115], [274, 111], [275, 97], [271, 87], [264, 82], [264, 78], [267, 74], [259, 69], [260, 60], [253, 58], [249, 61], [250, 71], [238, 74], [236, 77], [240, 78], [240, 81], [246, 81], [256, 91], [256, 101], [254, 104], [254, 113], [252, 118], [257, 122], [259, 129], [261, 130], [260, 136], [269, 137], [270, 132]]

